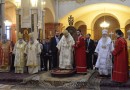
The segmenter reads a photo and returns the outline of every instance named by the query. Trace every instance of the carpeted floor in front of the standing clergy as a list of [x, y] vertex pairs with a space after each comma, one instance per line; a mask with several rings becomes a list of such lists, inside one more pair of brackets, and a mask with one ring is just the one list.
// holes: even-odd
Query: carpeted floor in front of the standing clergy
[[99, 78], [95, 70], [64, 78], [52, 77], [50, 72], [33, 75], [0, 73], [0, 90], [130, 90], [130, 79], [127, 83], [116, 85], [110, 78]]

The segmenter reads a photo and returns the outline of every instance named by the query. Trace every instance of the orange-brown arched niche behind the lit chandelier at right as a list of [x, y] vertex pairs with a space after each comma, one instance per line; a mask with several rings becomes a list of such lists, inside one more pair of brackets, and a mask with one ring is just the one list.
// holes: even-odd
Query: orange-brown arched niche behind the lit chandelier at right
[[[115, 15], [113, 15], [111, 13], [101, 13], [101, 14], [94, 17], [92, 24], [91, 24], [91, 27], [92, 27], [92, 30], [93, 30], [92, 34], [94, 35], [93, 37], [96, 40], [99, 40], [101, 38], [101, 30], [102, 30], [102, 28], [99, 26], [99, 24], [97, 25], [97, 22], [98, 22], [99, 19], [103, 22], [104, 16], [105, 16], [105, 20], [107, 22], [109, 22], [109, 23], [115, 22], [116, 23], [116, 26], [110, 24], [110, 27], [108, 28], [109, 33], [114, 32], [116, 28], [120, 28], [120, 22]], [[113, 37], [113, 39], [114, 39], [114, 37]]]

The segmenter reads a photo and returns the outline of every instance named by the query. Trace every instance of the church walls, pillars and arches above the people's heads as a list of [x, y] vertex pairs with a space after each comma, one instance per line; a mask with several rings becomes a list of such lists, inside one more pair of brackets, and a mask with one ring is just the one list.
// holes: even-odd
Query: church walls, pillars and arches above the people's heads
[[[34, 29], [35, 37], [50, 38], [55, 30], [62, 32], [69, 26], [68, 17], [74, 18], [73, 26], [81, 29], [83, 35], [92, 35], [94, 40], [101, 37], [102, 22], [109, 24], [106, 27], [109, 35], [120, 28], [125, 37], [130, 29], [130, 7], [128, 0], [2, 0], [1, 4], [3, 33], [8, 39], [17, 40], [18, 32], [26, 34]], [[25, 3], [26, 2], [26, 3]], [[34, 21], [34, 22], [33, 22]], [[41, 24], [40, 31], [38, 24]], [[3, 25], [3, 24], [2, 24]], [[26, 33], [27, 32], [27, 33]], [[40, 34], [39, 34], [40, 32]], [[38, 36], [39, 35], [39, 36]], [[24, 37], [24, 38], [25, 38]]]

